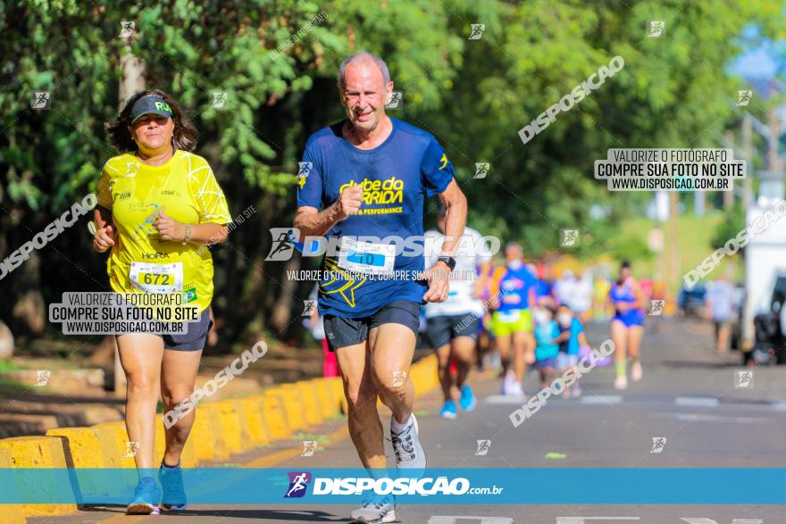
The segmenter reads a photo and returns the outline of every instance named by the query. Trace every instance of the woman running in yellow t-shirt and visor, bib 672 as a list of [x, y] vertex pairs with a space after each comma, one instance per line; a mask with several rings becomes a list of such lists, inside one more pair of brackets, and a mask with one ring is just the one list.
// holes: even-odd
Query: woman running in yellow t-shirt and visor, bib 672
[[106, 162], [98, 181], [93, 247], [112, 250], [106, 264], [110, 285], [118, 293], [178, 293], [182, 304], [201, 312], [186, 334], [117, 336], [128, 380], [126, 428], [129, 440], [139, 443], [134, 458], [140, 479], [127, 512], [157, 514], [159, 503], [183, 510], [180, 453], [196, 413], [164, 428], [162, 497], [151, 476], [155, 411], [159, 395], [167, 413], [194, 391], [213, 297], [213, 260], [199, 247], [226, 240], [230, 212], [208, 163], [190, 153], [197, 129], [171, 96], [158, 89], [132, 96], [106, 129], [121, 154]]

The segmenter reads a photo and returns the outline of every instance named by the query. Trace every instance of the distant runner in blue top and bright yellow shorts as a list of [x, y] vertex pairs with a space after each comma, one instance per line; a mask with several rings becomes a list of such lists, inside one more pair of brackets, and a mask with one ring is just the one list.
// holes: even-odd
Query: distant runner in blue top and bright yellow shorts
[[[494, 337], [502, 359], [503, 395], [524, 394], [522, 380], [527, 361], [534, 361], [535, 339], [532, 337], [532, 309], [535, 307], [537, 279], [523, 262], [520, 244], [505, 246], [506, 265], [494, 271], [491, 289], [494, 312]], [[510, 369], [510, 346], [513, 345], [513, 370]]]

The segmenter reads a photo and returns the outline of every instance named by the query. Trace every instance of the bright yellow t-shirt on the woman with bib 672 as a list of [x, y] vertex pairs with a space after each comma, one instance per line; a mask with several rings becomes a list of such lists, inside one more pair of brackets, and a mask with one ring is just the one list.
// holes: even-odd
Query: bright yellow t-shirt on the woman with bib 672
[[228, 224], [230, 211], [207, 161], [175, 151], [160, 166], [134, 154], [114, 156], [98, 180], [98, 205], [112, 211], [114, 246], [106, 263], [118, 293], [183, 294], [183, 304], [205, 311], [213, 298], [213, 258], [206, 247], [161, 240], [159, 211], [184, 224]]

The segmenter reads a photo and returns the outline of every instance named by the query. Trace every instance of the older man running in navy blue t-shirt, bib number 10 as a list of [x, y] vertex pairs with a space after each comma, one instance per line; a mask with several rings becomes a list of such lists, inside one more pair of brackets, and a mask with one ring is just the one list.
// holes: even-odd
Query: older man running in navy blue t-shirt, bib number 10
[[[295, 228], [301, 237], [329, 237], [328, 245], [338, 239], [338, 255], [329, 252], [322, 261], [322, 270], [330, 274], [320, 282], [319, 310], [330, 349], [338, 355], [349, 434], [361, 462], [378, 471], [386, 465], [379, 396], [393, 412], [390, 436], [397, 468], [422, 471], [426, 457], [409, 378], [418, 312], [424, 302], [447, 299], [466, 198], [437, 140], [385, 114], [393, 82], [380, 57], [350, 56], [341, 63], [338, 81], [347, 120], [317, 131], [305, 145]], [[422, 271], [422, 251], [397, 254], [397, 246], [387, 241], [357, 237], [415, 237], [422, 246], [424, 199], [433, 195], [447, 207], [444, 256], [426, 271], [427, 281], [398, 278], [400, 273], [390, 278], [390, 270]], [[394, 500], [374, 496], [352, 512], [352, 519], [392, 522]]]

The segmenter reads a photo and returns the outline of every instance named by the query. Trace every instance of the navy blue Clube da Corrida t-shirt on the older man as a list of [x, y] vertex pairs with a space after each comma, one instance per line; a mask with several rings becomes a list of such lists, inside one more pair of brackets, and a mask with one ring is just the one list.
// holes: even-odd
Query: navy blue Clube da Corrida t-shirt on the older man
[[[431, 133], [391, 118], [393, 130], [380, 146], [358, 149], [341, 134], [344, 122], [320, 129], [308, 138], [297, 189], [297, 205], [323, 210], [350, 185], [364, 185], [360, 211], [339, 221], [325, 235], [330, 237], [418, 237], [422, 246], [423, 204], [438, 195], [453, 179], [453, 165]], [[381, 244], [395, 244], [395, 241]], [[330, 242], [329, 242], [330, 245]], [[395, 256], [394, 270], [410, 274], [424, 270], [423, 256], [406, 256], [414, 250], [403, 246]], [[422, 304], [427, 283], [415, 279], [390, 279], [375, 275], [346, 274], [339, 257], [325, 255], [322, 270], [338, 279], [320, 284], [319, 312], [345, 318], [372, 315], [385, 304], [412, 300]], [[402, 273], [398, 272], [401, 275]]]

